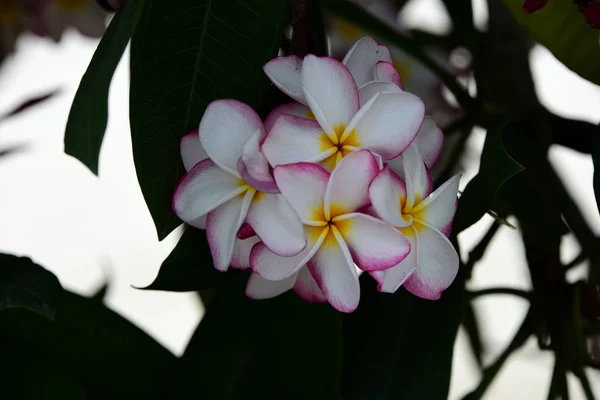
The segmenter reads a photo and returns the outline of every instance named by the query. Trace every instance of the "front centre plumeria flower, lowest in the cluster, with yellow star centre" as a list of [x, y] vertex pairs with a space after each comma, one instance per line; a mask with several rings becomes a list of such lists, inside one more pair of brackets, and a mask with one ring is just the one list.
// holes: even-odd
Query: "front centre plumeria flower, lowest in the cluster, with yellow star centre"
[[254, 272], [267, 280], [283, 280], [305, 265], [327, 301], [352, 312], [360, 299], [354, 264], [379, 271], [402, 261], [408, 240], [390, 224], [360, 212], [369, 205], [368, 187], [379, 172], [367, 150], [348, 155], [330, 174], [312, 163], [275, 167], [275, 181], [304, 224], [307, 245], [298, 255], [281, 257], [262, 243], [250, 253]]

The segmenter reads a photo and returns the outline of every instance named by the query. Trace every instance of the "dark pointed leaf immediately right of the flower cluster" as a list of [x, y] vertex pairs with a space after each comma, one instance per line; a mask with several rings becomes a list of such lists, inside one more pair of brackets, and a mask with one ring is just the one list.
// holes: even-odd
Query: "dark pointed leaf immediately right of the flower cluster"
[[504, 148], [504, 129], [490, 129], [485, 138], [479, 173], [469, 182], [458, 202], [453, 232], [467, 229], [488, 211], [496, 193], [510, 177], [523, 167]]

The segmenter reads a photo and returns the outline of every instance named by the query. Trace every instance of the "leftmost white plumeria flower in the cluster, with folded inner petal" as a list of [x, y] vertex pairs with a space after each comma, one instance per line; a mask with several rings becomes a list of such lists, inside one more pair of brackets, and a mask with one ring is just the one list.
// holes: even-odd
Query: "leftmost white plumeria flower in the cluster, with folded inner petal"
[[[250, 107], [217, 100], [200, 122], [200, 143], [190, 135], [181, 142], [182, 159], [190, 169], [173, 195], [173, 210], [190, 225], [206, 226], [214, 266], [220, 271], [232, 262], [244, 222], [279, 255], [298, 254], [306, 245], [294, 209], [274, 193], [274, 185], [263, 181], [268, 164], [257, 154], [257, 142], [264, 134], [260, 117]], [[203, 151], [208, 158], [194, 164]]]

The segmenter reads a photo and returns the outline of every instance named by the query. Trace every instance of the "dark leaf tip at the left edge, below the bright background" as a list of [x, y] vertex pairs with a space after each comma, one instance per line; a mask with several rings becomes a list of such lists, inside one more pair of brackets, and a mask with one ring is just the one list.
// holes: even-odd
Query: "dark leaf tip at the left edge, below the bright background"
[[0, 254], [0, 311], [24, 308], [53, 320], [61, 295], [53, 273], [29, 258]]

